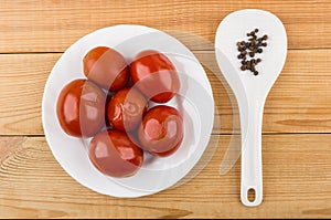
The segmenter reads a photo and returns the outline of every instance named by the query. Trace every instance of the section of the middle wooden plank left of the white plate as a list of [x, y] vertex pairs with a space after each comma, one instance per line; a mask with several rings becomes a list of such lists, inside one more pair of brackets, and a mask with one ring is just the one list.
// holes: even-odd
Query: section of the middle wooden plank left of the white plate
[[0, 55], [0, 134], [43, 134], [44, 85], [58, 54]]

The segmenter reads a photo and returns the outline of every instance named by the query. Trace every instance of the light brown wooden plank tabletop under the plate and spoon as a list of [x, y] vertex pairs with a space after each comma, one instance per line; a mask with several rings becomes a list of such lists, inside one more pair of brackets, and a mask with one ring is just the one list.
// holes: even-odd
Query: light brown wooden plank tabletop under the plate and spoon
[[[241, 203], [239, 161], [218, 174], [232, 137], [233, 108], [210, 70], [222, 123], [211, 143], [220, 140], [209, 165], [190, 182], [117, 199], [83, 187], [61, 168], [44, 138], [41, 99], [66, 48], [104, 27], [143, 24], [168, 31], [202, 63], [216, 67], [211, 61], [216, 27], [227, 13], [245, 8], [277, 14], [288, 33], [287, 62], [264, 114], [261, 206]], [[330, 0], [2, 0], [0, 14], [0, 218], [331, 217]]]

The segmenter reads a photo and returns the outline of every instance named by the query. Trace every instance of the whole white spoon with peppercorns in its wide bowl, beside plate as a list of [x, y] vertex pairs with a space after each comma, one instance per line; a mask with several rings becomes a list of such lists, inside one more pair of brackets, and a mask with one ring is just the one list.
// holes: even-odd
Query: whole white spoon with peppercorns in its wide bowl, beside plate
[[[267, 48], [255, 56], [261, 62], [255, 76], [241, 71], [236, 42], [247, 41], [246, 33], [257, 28], [258, 36], [268, 35]], [[215, 36], [218, 66], [233, 90], [241, 114], [242, 184], [241, 198], [246, 206], [258, 206], [263, 200], [261, 125], [266, 97], [280, 74], [287, 55], [287, 35], [281, 21], [273, 13], [247, 9], [228, 14], [218, 25]], [[247, 56], [249, 57], [249, 56]], [[255, 192], [254, 201], [248, 191]]]

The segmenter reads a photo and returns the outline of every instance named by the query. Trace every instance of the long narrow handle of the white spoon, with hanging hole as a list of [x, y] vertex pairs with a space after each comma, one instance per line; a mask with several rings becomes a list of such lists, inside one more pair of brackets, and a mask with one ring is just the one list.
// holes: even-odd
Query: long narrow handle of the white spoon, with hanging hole
[[[263, 200], [261, 125], [265, 98], [248, 102], [241, 109], [242, 122], [242, 202], [258, 206]], [[247, 124], [245, 124], [247, 123]]]

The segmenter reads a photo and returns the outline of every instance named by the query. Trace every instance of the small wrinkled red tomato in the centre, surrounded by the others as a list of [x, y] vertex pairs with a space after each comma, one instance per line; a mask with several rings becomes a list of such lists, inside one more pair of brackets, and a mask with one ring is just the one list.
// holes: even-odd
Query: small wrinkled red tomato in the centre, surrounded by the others
[[113, 96], [107, 117], [113, 128], [130, 132], [141, 122], [147, 107], [147, 99], [138, 90], [126, 87]]

